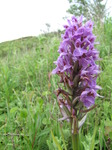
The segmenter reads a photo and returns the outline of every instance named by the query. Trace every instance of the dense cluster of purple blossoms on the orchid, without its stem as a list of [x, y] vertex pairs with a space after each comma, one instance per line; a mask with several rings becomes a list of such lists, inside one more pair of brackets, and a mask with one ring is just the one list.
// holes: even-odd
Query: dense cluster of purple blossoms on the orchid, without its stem
[[[52, 74], [60, 76], [60, 82], [64, 83], [69, 92], [60, 89], [58, 95], [63, 91], [67, 99], [67, 95], [71, 94], [72, 101], [76, 99], [78, 103], [90, 108], [95, 103], [95, 97], [98, 96], [97, 90], [101, 89], [96, 85], [100, 68], [95, 63], [99, 60], [99, 52], [94, 47], [97, 43], [92, 33], [93, 22], [90, 20], [83, 25], [82, 16], [79, 18], [73, 16], [64, 28], [65, 33], [62, 35], [63, 40], [58, 50], [60, 55], [54, 62], [56, 68]], [[69, 103], [67, 107], [70, 105]]]

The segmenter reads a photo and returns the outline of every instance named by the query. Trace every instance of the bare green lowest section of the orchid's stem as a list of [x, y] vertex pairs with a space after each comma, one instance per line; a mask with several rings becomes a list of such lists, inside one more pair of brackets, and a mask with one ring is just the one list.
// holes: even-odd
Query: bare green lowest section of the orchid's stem
[[72, 146], [73, 150], [79, 150], [79, 133], [72, 134]]

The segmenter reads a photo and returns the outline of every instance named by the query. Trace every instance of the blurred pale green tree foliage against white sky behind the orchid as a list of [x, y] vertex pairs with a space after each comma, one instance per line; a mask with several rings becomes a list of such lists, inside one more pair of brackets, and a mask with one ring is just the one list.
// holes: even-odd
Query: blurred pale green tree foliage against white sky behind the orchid
[[107, 13], [106, 3], [103, 0], [68, 0], [70, 8], [67, 12], [80, 16], [83, 14], [87, 19], [94, 18], [95, 21], [102, 21]]

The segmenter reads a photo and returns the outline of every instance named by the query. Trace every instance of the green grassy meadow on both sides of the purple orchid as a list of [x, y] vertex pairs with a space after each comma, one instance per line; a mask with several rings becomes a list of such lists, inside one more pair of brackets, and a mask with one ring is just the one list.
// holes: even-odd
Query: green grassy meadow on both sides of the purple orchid
[[[102, 87], [80, 130], [81, 150], [112, 149], [112, 18], [95, 23]], [[0, 43], [0, 150], [72, 150], [54, 91], [61, 32]]]

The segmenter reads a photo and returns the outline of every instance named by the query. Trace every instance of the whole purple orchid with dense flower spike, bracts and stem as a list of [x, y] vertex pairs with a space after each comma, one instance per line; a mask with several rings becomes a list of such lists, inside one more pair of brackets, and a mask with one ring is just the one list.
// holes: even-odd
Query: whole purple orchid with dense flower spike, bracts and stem
[[[56, 91], [59, 108], [63, 118], [71, 123], [73, 141], [78, 138], [79, 128], [85, 122], [86, 114], [95, 107], [95, 98], [99, 96], [96, 84], [100, 73], [99, 52], [95, 48], [96, 36], [93, 35], [93, 22], [83, 24], [83, 16], [73, 16], [64, 26], [65, 33], [59, 47], [59, 57], [52, 74], [60, 76], [65, 88]], [[61, 95], [61, 96], [60, 96]], [[86, 109], [85, 109], [86, 108]], [[77, 146], [74, 146], [73, 149]]]

